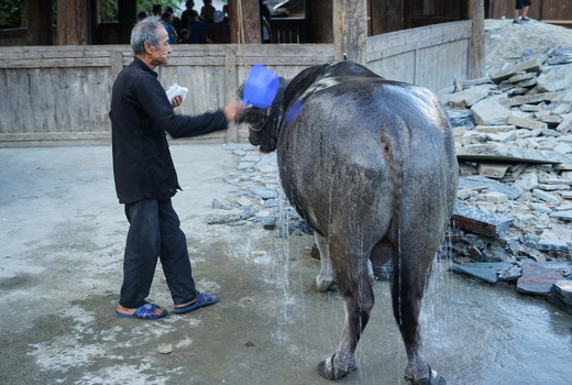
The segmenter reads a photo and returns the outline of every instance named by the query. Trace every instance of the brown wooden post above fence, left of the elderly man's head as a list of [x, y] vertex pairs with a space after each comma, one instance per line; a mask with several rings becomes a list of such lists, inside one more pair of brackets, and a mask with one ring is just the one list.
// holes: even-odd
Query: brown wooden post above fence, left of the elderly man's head
[[88, 14], [85, 0], [57, 0], [57, 44], [88, 45]]

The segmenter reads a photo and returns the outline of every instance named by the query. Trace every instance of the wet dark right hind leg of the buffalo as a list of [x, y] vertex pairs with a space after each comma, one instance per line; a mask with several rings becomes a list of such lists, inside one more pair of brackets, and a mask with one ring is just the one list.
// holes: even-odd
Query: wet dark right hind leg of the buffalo
[[411, 249], [408, 244], [400, 249], [400, 255], [395, 258], [392, 299], [394, 316], [407, 353], [405, 378], [413, 385], [444, 385], [446, 380], [427, 363], [419, 324], [421, 302], [437, 244], [435, 249]]

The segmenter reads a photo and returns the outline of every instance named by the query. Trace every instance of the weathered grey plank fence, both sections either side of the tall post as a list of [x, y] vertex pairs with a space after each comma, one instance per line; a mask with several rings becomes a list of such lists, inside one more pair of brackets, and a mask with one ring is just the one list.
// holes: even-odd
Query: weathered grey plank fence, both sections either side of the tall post
[[[465, 79], [471, 21], [367, 37], [367, 66], [385, 78], [439, 90]], [[201, 113], [235, 100], [250, 68], [262, 63], [285, 78], [332, 61], [332, 44], [173, 46], [158, 70], [165, 88], [189, 88], [179, 113]], [[132, 61], [128, 45], [0, 47], [0, 146], [108, 143], [117, 74]], [[232, 127], [194, 141], [246, 142]]]

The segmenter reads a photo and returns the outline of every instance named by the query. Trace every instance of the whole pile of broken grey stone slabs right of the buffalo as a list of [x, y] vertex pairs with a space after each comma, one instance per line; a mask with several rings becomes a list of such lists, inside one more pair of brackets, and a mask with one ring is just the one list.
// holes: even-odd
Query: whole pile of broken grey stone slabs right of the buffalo
[[460, 164], [449, 239], [463, 267], [453, 270], [515, 280], [570, 312], [572, 46], [528, 51], [439, 97]]

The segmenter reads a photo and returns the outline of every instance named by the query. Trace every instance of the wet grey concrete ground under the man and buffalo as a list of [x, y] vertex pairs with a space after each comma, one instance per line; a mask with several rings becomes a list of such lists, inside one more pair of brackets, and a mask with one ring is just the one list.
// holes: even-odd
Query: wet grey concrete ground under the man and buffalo
[[[232, 199], [235, 158], [221, 145], [172, 150], [188, 187], [174, 205], [194, 275], [221, 301], [141, 321], [114, 317], [127, 221], [110, 147], [0, 148], [0, 383], [330, 383], [316, 365], [334, 352], [344, 315], [336, 292], [311, 289], [312, 238], [205, 224], [213, 198]], [[405, 384], [388, 285], [374, 290], [359, 371], [340, 384]], [[572, 316], [546, 300], [453, 275], [447, 260], [426, 298], [426, 355], [450, 384], [572, 382]], [[173, 307], [161, 268], [150, 300]]]

